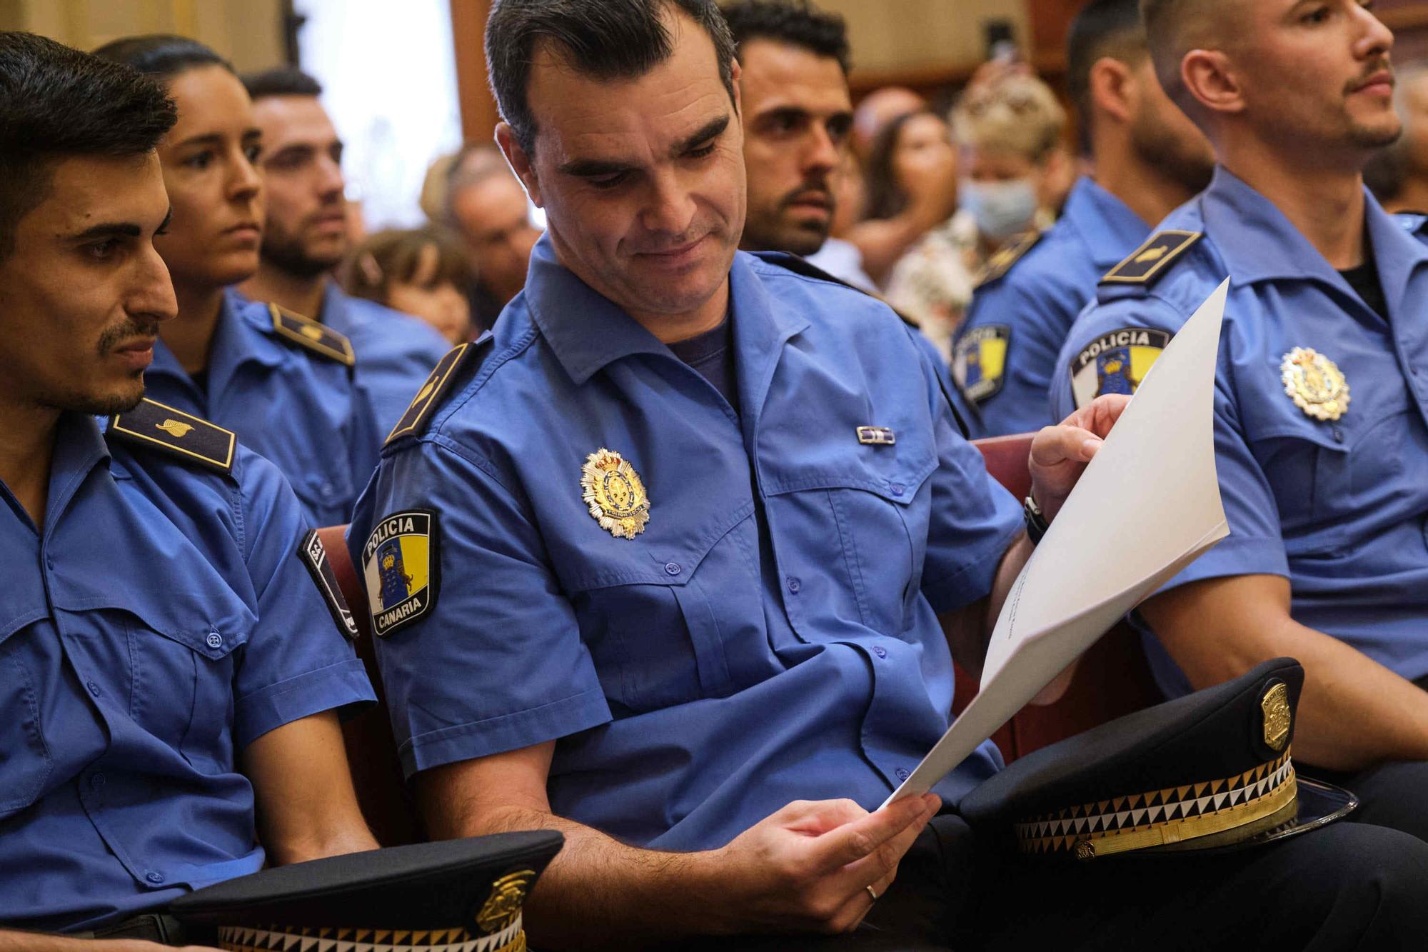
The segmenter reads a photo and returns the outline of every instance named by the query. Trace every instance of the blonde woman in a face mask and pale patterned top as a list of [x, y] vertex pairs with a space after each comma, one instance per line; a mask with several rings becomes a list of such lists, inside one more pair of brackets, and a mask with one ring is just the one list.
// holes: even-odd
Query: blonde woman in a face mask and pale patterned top
[[887, 292], [945, 357], [991, 256], [1054, 220], [1071, 172], [1064, 129], [1065, 111], [1031, 76], [975, 86], [952, 110], [958, 210], [897, 263]]

